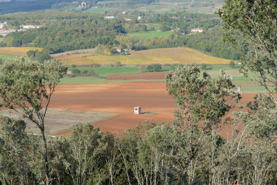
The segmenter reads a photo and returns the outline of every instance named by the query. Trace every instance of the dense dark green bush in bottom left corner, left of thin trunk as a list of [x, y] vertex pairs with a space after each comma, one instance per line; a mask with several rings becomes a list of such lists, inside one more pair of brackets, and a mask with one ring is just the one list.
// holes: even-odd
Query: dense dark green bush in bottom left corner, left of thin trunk
[[29, 139], [26, 123], [8, 117], [0, 118], [0, 182], [20, 184], [32, 182], [28, 177], [30, 157], [26, 155]]

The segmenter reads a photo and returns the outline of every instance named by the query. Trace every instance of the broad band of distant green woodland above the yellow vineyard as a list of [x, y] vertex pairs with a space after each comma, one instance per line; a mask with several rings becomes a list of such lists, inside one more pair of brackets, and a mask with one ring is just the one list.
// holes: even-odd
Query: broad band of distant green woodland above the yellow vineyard
[[[30, 14], [33, 17], [33, 24], [44, 24], [45, 27], [26, 30], [24, 32], [10, 33], [1, 43], [1, 46], [21, 46], [33, 43], [35, 46], [42, 47], [50, 53], [60, 53], [75, 49], [89, 49], [99, 44], [109, 46], [119, 46], [123, 49], [144, 50], [157, 49], [176, 46], [190, 46], [194, 49], [203, 51], [217, 57], [238, 60], [239, 55], [228, 44], [224, 44], [221, 39], [222, 31], [214, 28], [204, 34], [182, 35], [190, 31], [190, 28], [197, 26], [214, 27], [219, 24], [218, 17], [215, 15], [194, 15], [194, 14], [145, 14], [143, 20], [148, 24], [166, 25], [170, 29], [177, 29], [168, 37], [159, 39], [130, 37], [126, 33], [148, 31], [151, 26], [136, 24], [136, 22], [126, 22], [123, 20], [105, 20], [102, 15], [88, 15], [84, 13], [54, 13], [45, 18], [42, 13]], [[172, 17], [178, 16], [178, 19]], [[184, 17], [186, 17], [184, 19]], [[26, 14], [6, 15], [0, 19], [10, 19], [10, 26], [19, 26], [28, 22], [30, 17]], [[78, 20], [78, 21], [77, 21]], [[30, 24], [30, 22], [28, 22]]]

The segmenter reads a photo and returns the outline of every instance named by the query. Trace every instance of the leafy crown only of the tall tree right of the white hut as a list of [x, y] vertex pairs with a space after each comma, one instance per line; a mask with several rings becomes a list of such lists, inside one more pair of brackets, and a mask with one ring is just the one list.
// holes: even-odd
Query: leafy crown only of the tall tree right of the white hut
[[205, 73], [201, 78], [195, 64], [166, 73], [166, 87], [177, 103], [177, 117], [185, 124], [204, 121], [206, 132], [229, 112], [228, 101], [241, 98], [240, 89], [235, 88], [227, 73], [221, 71], [215, 79]]

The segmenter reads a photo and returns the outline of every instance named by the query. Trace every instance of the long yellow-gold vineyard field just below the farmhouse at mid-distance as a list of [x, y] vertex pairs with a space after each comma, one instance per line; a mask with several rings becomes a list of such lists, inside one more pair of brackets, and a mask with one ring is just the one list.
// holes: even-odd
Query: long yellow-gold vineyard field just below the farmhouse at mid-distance
[[130, 55], [96, 55], [84, 53], [63, 55], [55, 59], [66, 64], [228, 64], [231, 60], [215, 58], [188, 48], [151, 49], [145, 51], [131, 51]]

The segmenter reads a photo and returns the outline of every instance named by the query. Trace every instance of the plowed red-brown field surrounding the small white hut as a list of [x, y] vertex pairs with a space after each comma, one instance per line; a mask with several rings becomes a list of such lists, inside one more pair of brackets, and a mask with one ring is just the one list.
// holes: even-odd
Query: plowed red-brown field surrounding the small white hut
[[[241, 103], [254, 94], [243, 94]], [[135, 115], [141, 106], [146, 114]], [[167, 122], [174, 118], [175, 103], [167, 94], [165, 82], [118, 82], [103, 84], [58, 85], [50, 107], [116, 113], [116, 116], [94, 123], [104, 132], [120, 134], [145, 120]], [[147, 114], [154, 112], [156, 114]], [[57, 135], [70, 134], [71, 130]]]

